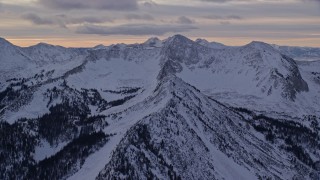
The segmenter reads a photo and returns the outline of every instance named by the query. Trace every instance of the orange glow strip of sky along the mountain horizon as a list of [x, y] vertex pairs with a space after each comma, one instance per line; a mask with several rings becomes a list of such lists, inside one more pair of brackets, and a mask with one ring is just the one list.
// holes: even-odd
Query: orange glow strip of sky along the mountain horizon
[[[151, 36], [150, 36], [151, 37]], [[143, 43], [149, 37], [132, 37], [132, 38], [110, 38], [110, 37], [94, 37], [94, 38], [5, 38], [12, 44], [20, 47], [29, 47], [38, 43], [47, 43], [51, 45], [58, 45], [63, 47], [94, 47], [97, 45], [109, 46], [112, 44], [135, 44]], [[165, 39], [167, 37], [159, 37]], [[192, 40], [198, 37], [188, 37]], [[269, 44], [277, 44], [283, 46], [300, 46], [300, 47], [319, 47], [320, 38], [288, 38], [288, 39], [270, 39], [257, 38], [251, 39], [248, 37], [201, 37], [209, 42], [219, 42], [227, 46], [241, 46], [246, 45], [252, 41], [263, 41]]]

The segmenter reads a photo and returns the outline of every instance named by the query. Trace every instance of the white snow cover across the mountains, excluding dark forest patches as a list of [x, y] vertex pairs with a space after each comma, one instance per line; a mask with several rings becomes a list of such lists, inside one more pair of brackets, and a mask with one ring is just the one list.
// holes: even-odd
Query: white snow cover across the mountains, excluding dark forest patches
[[[78, 91], [96, 89], [107, 102], [126, 96], [112, 93], [113, 91], [140, 88], [135, 97], [120, 106], [98, 111], [97, 106], [90, 105], [93, 115], [108, 117], [106, 121], [109, 125], [103, 131], [114, 135], [68, 179], [95, 179], [99, 173], [106, 172], [106, 165], [111, 166], [115, 151], [124, 146], [124, 142], [132, 135], [131, 130], [139, 124], [147, 124], [153, 130], [151, 137], [154, 141], [163, 138], [181, 145], [186, 151], [193, 147], [192, 144], [183, 146], [188, 140], [186, 137], [195, 138], [194, 143], [199, 145], [199, 148], [195, 147], [196, 151], [202, 153], [204, 147], [207, 147], [209, 152], [190, 155], [190, 158], [198, 160], [203, 155], [206, 162], [214, 166], [214, 170], [208, 171], [218, 179], [257, 179], [256, 174], [273, 174], [282, 179], [291, 179], [296, 172], [290, 169], [290, 157], [266, 143], [261, 133], [252, 129], [243, 132], [243, 128], [238, 125], [238, 120], [241, 119], [238, 115], [209, 99], [212, 97], [226, 105], [245, 107], [276, 117], [302, 117], [307, 114], [320, 116], [320, 61], [295, 64], [282, 56], [283, 49], [263, 42], [228, 47], [203, 39], [194, 42], [180, 35], [166, 40], [150, 38], [142, 44], [117, 44], [92, 49], [64, 48], [43, 43], [20, 48], [0, 39], [0, 92], [10, 82], [15, 82], [7, 81], [12, 78], [25, 78], [24, 83], [34, 90], [27, 102], [22, 103], [18, 99], [1, 110], [0, 113], [3, 114], [0, 114], [0, 120], [12, 124], [20, 118], [37, 118], [48, 113], [50, 106], [61, 103], [62, 100], [51, 102], [45, 97], [45, 93], [58, 87], [63, 81]], [[166, 62], [172, 62], [171, 69], [164, 69]], [[308, 91], [297, 92], [292, 100], [284, 98], [283, 92], [287, 87], [286, 78], [292, 76], [294, 68], [297, 68], [297, 72], [307, 83]], [[164, 79], [159, 76], [161, 73], [166, 75]], [[36, 74], [43, 76], [38, 78], [35, 77]], [[22, 91], [21, 85], [14, 88]], [[181, 99], [177, 100], [178, 97]], [[165, 114], [172, 110], [172, 102], [178, 104], [175, 109], [177, 112], [173, 111], [176, 114]], [[194, 109], [189, 110], [185, 104]], [[196, 109], [203, 111], [201, 119], [207, 120], [208, 124], [200, 121], [199, 114], [202, 111]], [[161, 125], [162, 120], [167, 123], [164, 127], [170, 133], [176, 129], [188, 128], [194, 134], [185, 130], [185, 137], [175, 136], [176, 134], [169, 134], [172, 137], [164, 136], [157, 126]], [[178, 123], [176, 129], [172, 127], [174, 124], [170, 124], [172, 122]], [[226, 137], [228, 142], [235, 143], [241, 152], [237, 152], [237, 149], [225, 152], [219, 149], [219, 135]], [[51, 147], [46, 141], [41, 141], [36, 147], [34, 159], [43, 160], [65, 145], [64, 142]], [[154, 158], [148, 149], [141, 152], [149, 159]], [[255, 158], [266, 160], [268, 167], [251, 166], [248, 162], [254, 162]], [[200, 168], [203, 164], [195, 162], [193, 165]], [[161, 170], [153, 169], [153, 172], [160, 179], [166, 179]], [[197, 172], [189, 173], [197, 175]]]

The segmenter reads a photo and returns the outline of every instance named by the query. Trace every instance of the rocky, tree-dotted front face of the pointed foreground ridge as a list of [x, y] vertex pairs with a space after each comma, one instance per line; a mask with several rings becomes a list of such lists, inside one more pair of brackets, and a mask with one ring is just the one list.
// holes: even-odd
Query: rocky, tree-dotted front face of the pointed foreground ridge
[[159, 88], [156, 94], [170, 93], [166, 106], [130, 128], [97, 179], [291, 179], [316, 174], [248, 131], [241, 115], [181, 79], [166, 77]]

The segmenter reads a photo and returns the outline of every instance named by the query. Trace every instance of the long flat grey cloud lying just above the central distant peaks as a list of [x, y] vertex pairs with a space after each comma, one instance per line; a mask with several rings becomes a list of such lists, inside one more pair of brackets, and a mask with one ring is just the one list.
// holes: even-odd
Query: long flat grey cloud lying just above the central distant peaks
[[80, 26], [76, 32], [79, 34], [98, 34], [98, 35], [164, 35], [169, 32], [179, 33], [197, 29], [190, 25], [156, 25], [156, 24], [128, 24], [120, 26]]

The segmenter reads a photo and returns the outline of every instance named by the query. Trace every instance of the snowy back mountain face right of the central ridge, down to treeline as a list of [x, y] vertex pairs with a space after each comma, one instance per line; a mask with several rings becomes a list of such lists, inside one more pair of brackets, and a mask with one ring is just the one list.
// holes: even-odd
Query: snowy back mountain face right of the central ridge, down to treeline
[[[171, 73], [220, 101], [259, 111], [307, 113], [296, 103], [303, 99], [297, 96], [309, 91], [299, 67], [268, 44], [252, 42], [218, 50], [177, 35], [165, 42], [162, 55]], [[304, 104], [310, 105], [315, 96]]]

